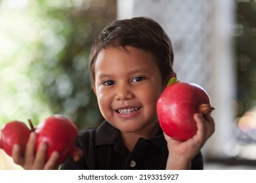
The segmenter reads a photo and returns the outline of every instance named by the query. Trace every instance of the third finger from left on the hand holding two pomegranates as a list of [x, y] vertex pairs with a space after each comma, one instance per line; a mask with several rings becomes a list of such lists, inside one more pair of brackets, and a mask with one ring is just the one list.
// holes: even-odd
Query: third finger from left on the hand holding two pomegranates
[[45, 158], [47, 156], [47, 143], [41, 142], [35, 155], [35, 161], [33, 163], [33, 169], [43, 169], [45, 166]]

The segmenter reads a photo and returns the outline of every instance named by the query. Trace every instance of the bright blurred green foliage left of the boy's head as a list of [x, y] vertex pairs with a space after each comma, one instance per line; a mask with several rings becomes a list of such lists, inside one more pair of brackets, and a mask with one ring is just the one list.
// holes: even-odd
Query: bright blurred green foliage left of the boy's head
[[51, 114], [99, 124], [88, 58], [115, 19], [116, 0], [0, 1], [0, 125]]

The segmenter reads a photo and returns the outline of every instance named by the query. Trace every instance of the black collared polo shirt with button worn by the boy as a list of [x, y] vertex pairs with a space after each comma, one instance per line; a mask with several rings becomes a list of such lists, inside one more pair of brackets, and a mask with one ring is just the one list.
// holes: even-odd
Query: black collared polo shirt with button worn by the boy
[[[83, 157], [75, 162], [70, 156], [60, 169], [165, 169], [168, 158], [161, 128], [155, 137], [140, 137], [129, 152], [119, 130], [104, 121], [98, 127], [80, 131], [76, 145], [83, 151]], [[201, 152], [192, 160], [192, 169], [203, 169]]]

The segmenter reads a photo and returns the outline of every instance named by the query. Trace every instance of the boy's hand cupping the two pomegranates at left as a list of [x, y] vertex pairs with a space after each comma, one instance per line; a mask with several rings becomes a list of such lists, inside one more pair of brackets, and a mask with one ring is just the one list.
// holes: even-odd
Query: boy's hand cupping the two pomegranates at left
[[45, 163], [47, 155], [47, 144], [41, 143], [35, 154], [36, 134], [31, 133], [24, 156], [20, 154], [20, 146], [15, 144], [12, 148], [12, 158], [14, 163], [21, 165], [24, 169], [58, 169], [56, 161], [59, 157], [58, 152], [53, 152], [49, 161]]

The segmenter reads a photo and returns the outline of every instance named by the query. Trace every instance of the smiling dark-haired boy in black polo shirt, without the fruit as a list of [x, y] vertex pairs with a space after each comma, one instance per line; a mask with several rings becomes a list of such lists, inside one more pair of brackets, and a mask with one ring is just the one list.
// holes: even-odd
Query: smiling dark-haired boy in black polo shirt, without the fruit
[[[215, 130], [210, 114], [194, 114], [198, 131], [175, 141], [158, 124], [156, 101], [172, 68], [173, 48], [161, 26], [150, 18], [117, 20], [106, 27], [91, 49], [91, 84], [105, 121], [79, 133], [79, 161], [68, 158], [60, 169], [203, 169], [200, 149]], [[25, 157], [12, 152], [25, 169], [54, 169], [58, 153], [44, 163], [47, 144], [33, 156], [33, 134]], [[31, 158], [29, 159], [29, 157]]]

